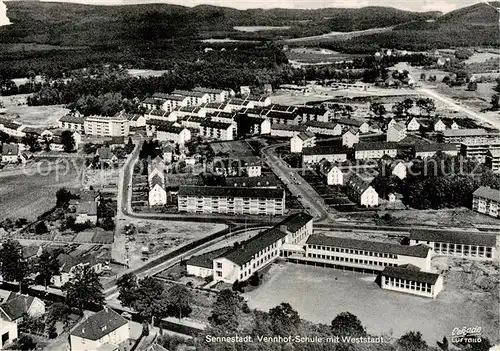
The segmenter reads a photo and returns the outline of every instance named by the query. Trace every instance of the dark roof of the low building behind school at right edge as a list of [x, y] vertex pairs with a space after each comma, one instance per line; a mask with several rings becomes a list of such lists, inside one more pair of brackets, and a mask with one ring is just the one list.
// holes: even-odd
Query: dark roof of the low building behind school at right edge
[[411, 240], [495, 247], [495, 235], [452, 230], [412, 229]]

